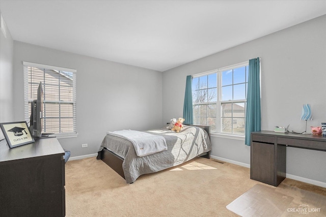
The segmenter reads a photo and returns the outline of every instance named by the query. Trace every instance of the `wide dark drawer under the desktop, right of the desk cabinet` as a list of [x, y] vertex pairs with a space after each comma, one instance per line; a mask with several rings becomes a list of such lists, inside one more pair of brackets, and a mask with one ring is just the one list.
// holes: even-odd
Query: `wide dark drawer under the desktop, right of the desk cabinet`
[[277, 138], [277, 143], [279, 145], [289, 145], [298, 148], [308, 148], [315, 150], [326, 151], [326, 142], [305, 140], [305, 139], [290, 139], [290, 138]]

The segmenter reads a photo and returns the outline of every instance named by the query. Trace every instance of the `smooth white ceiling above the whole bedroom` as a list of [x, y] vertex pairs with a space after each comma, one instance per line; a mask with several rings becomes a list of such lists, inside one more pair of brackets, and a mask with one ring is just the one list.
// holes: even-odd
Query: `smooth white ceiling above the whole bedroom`
[[326, 14], [326, 1], [0, 1], [14, 40], [157, 71]]

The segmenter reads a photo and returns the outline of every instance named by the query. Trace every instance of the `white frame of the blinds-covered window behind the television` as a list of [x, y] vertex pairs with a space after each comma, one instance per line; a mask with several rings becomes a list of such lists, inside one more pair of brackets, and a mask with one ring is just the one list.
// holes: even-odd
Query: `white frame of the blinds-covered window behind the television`
[[[23, 75], [24, 75], [24, 117], [27, 122], [30, 121], [30, 114], [29, 114], [29, 67], [35, 67], [35, 68], [41, 68], [45, 70], [53, 70], [53, 71], [66, 71], [66, 72], [71, 72], [73, 73], [73, 79], [72, 79], [72, 87], [73, 87], [73, 97], [72, 97], [72, 102], [68, 104], [72, 104], [73, 106], [73, 132], [68, 132], [68, 133], [55, 133], [55, 136], [58, 139], [62, 138], [72, 138], [72, 137], [77, 137], [77, 130], [76, 130], [76, 73], [77, 70], [75, 69], [69, 69], [69, 68], [63, 68], [63, 67], [57, 67], [57, 66], [49, 66], [49, 65], [44, 65], [44, 64], [37, 64], [37, 63], [30, 63], [27, 61], [23, 61]], [[44, 82], [42, 81], [42, 84]], [[43, 90], [44, 91], [44, 90]], [[45, 94], [44, 94], [45, 97]], [[54, 101], [48, 101], [45, 100], [43, 103], [53, 103]], [[63, 103], [67, 104], [67, 103]], [[44, 111], [43, 111], [44, 112]], [[60, 113], [60, 112], [59, 112]], [[61, 114], [60, 114], [61, 115]], [[58, 118], [61, 119], [61, 116], [59, 115]], [[44, 129], [45, 125], [43, 125]], [[42, 129], [42, 132], [44, 132]]]

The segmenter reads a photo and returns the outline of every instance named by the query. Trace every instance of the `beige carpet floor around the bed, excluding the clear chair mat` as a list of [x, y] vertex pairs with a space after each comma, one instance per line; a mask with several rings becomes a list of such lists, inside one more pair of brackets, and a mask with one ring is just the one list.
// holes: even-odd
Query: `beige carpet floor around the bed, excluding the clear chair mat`
[[[258, 183], [249, 168], [205, 158], [143, 175], [133, 184], [95, 157], [68, 161], [66, 216], [238, 216], [226, 206]], [[326, 196], [326, 189], [291, 179], [271, 188], [285, 187]]]

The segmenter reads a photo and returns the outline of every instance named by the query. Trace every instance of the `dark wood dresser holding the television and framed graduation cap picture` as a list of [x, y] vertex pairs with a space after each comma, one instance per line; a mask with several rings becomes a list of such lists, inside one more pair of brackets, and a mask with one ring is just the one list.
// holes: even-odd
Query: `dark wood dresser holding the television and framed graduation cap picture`
[[0, 142], [0, 216], [65, 216], [65, 151], [55, 137]]

